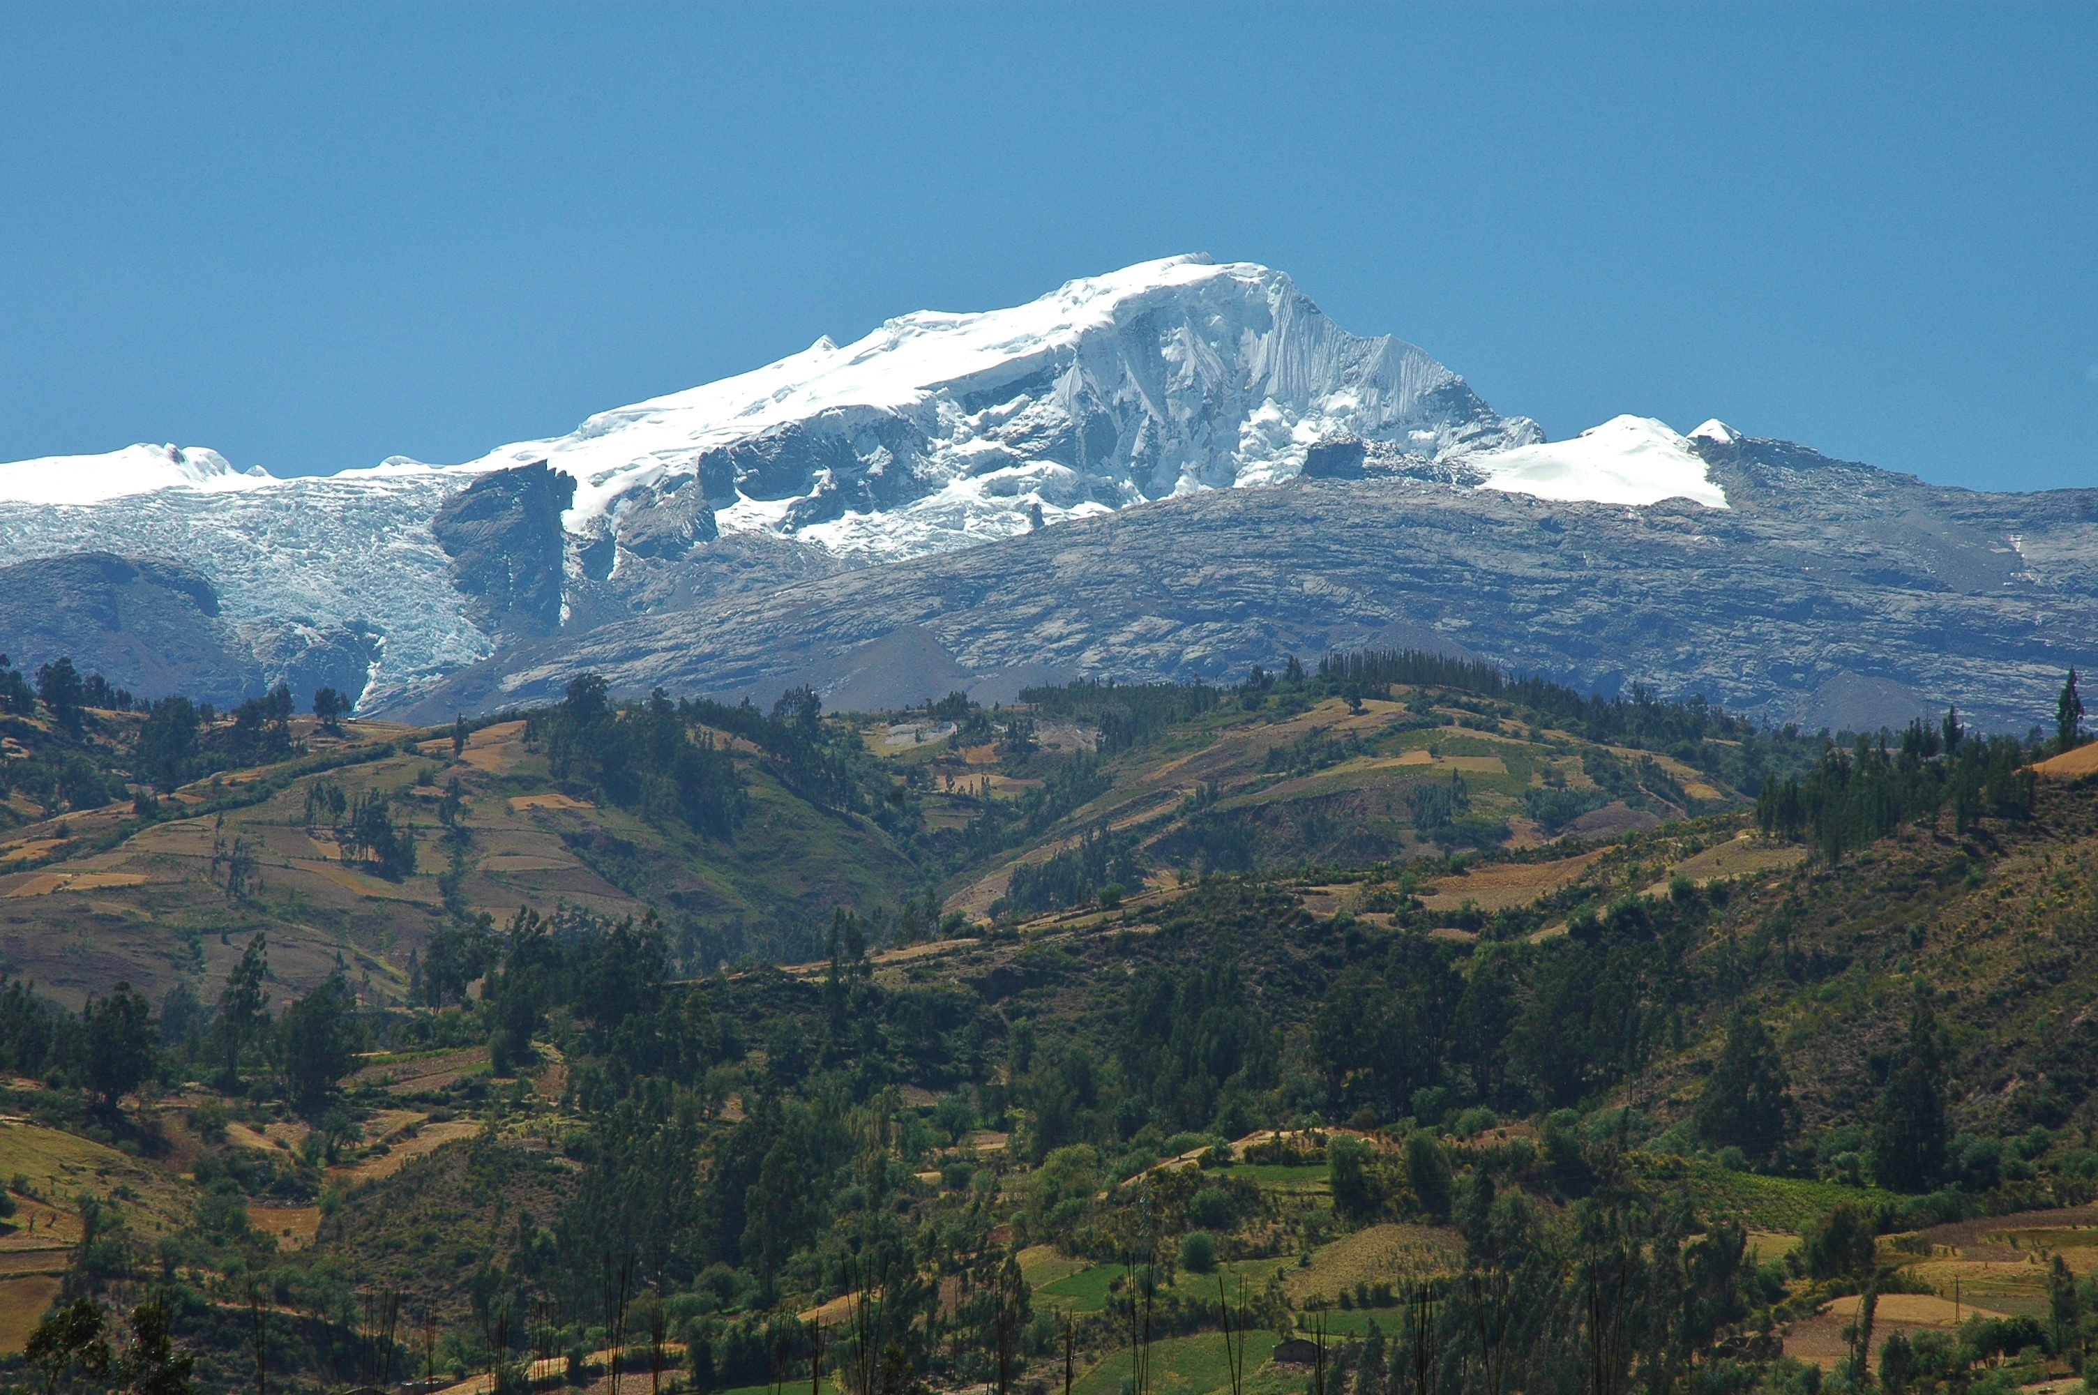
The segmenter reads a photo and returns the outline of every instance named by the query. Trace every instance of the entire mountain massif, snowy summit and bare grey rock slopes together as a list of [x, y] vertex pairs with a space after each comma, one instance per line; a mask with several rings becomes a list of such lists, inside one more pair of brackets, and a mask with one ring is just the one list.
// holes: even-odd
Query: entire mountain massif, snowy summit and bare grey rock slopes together
[[[1957, 701], [2022, 726], [2090, 659], [2094, 518], [2092, 491], [1932, 489], [1716, 422], [1544, 443], [1286, 275], [1206, 258], [904, 315], [466, 466], [0, 466], [0, 564], [208, 581], [231, 657], [187, 686], [327, 684], [418, 720], [577, 665], [881, 707], [1399, 642], [1773, 720]], [[63, 636], [84, 667], [162, 690], [90, 573], [34, 573], [31, 608], [88, 617]], [[0, 627], [29, 663], [59, 642]]]

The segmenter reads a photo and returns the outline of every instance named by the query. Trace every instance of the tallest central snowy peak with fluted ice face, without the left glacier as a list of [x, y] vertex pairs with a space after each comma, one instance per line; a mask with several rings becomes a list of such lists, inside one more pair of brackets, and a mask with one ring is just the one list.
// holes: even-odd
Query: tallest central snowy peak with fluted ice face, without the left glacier
[[621, 550], [661, 554], [634, 524], [697, 482], [722, 531], [892, 560], [1271, 485], [1330, 436], [1425, 462], [1542, 441], [1420, 348], [1347, 334], [1280, 271], [1179, 256], [1009, 310], [825, 338], [470, 468], [548, 462], [577, 480], [569, 533]]

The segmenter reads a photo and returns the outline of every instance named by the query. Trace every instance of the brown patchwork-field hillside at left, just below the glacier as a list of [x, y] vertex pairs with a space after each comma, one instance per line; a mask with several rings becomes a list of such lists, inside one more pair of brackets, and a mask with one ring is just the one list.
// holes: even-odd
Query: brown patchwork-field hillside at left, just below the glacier
[[[350, 743], [403, 734], [348, 728]], [[818, 925], [839, 902], [896, 902], [915, 885], [908, 860], [879, 829], [812, 808], [749, 755], [741, 764], [753, 810], [728, 843], [562, 795], [516, 724], [476, 732], [468, 757], [453, 764], [445, 738], [319, 774], [292, 774], [298, 764], [237, 772], [227, 778], [235, 793], [256, 782], [281, 789], [224, 810], [220, 827], [220, 814], [185, 814], [214, 797], [212, 782], [199, 782], [166, 801], [162, 822], [134, 827], [109, 847], [84, 831], [113, 837], [128, 806], [67, 816], [76, 837], [57, 847], [42, 835], [61, 820], [17, 829], [17, 852], [34, 847], [40, 858], [0, 875], [0, 967], [69, 1007], [120, 980], [159, 1001], [189, 978], [212, 1001], [248, 933], [264, 929], [275, 996], [304, 992], [340, 965], [367, 1001], [397, 1003], [409, 952], [445, 917], [436, 803], [451, 778], [466, 791], [472, 833], [464, 896], [499, 921], [518, 906], [569, 904], [611, 917], [655, 906], [673, 933], [686, 915], [709, 925]], [[420, 785], [424, 776], [436, 782]], [[331, 837], [306, 824], [306, 791], [317, 780], [350, 799], [373, 789], [401, 795], [397, 818], [418, 827], [415, 875], [382, 881], [342, 866]], [[243, 900], [212, 877], [214, 841], [237, 837], [254, 847], [260, 875], [260, 889]]]

